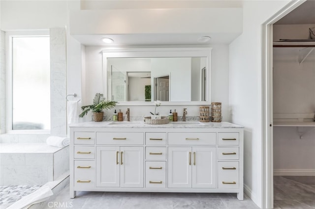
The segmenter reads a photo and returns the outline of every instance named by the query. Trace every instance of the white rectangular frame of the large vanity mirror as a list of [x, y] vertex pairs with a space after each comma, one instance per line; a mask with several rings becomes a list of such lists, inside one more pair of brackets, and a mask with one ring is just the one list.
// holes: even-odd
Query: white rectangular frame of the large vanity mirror
[[[163, 102], [167, 105], [209, 105], [211, 104], [211, 50], [212, 48], [136, 48], [104, 49], [103, 52], [103, 89], [107, 98], [107, 58], [130, 57], [207, 57], [207, 98], [198, 102]], [[152, 105], [153, 102], [119, 102], [118, 105]]]

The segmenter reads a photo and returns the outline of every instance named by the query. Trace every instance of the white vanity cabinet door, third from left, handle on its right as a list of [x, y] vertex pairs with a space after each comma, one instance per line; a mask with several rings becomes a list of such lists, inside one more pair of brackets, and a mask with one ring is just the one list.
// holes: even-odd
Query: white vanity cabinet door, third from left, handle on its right
[[191, 147], [168, 148], [168, 187], [191, 188]]

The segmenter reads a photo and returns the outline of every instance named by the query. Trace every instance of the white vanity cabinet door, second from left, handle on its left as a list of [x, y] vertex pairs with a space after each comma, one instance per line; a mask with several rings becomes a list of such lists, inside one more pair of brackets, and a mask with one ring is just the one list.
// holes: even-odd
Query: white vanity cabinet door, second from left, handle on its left
[[143, 147], [121, 147], [121, 187], [143, 187]]

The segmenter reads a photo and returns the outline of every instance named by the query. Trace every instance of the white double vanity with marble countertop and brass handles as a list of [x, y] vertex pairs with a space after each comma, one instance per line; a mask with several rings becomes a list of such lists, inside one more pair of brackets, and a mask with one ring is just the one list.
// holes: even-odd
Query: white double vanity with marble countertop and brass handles
[[76, 191], [237, 193], [243, 200], [242, 126], [221, 122], [70, 125]]

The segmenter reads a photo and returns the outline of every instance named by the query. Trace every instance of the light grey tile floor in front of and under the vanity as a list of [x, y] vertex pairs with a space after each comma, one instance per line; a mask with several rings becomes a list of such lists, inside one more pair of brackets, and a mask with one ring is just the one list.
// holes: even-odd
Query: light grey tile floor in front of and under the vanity
[[53, 204], [75, 209], [258, 209], [246, 195], [239, 201], [231, 193], [77, 192], [69, 199], [68, 187], [44, 209]]

